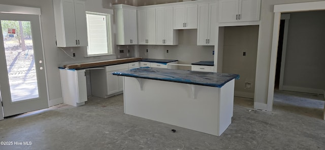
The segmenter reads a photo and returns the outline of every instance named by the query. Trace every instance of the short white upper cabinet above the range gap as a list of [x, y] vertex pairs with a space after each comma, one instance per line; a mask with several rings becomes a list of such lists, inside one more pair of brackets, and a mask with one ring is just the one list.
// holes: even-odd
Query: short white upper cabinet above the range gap
[[198, 5], [174, 7], [174, 29], [198, 28]]

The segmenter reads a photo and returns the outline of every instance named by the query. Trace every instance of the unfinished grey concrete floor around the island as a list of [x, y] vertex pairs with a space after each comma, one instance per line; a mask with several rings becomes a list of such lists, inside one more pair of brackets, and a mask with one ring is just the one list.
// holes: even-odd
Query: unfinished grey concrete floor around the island
[[278, 91], [272, 112], [235, 97], [232, 124], [220, 137], [125, 115], [123, 95], [90, 97], [83, 106], [0, 121], [0, 141], [31, 142], [0, 149], [325, 149], [322, 96]]

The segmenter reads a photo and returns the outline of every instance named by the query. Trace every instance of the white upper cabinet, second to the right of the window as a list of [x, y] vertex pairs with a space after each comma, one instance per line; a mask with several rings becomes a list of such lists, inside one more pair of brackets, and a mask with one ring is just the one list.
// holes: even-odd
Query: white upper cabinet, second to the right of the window
[[156, 10], [138, 10], [138, 43], [140, 45], [156, 44]]

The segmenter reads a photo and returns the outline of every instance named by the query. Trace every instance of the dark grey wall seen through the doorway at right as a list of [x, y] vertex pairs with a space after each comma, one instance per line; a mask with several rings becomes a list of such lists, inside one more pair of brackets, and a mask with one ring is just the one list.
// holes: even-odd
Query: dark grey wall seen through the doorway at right
[[[325, 89], [325, 20], [320, 18], [325, 18], [325, 11], [290, 13], [284, 90]], [[287, 86], [290, 88], [285, 88]], [[319, 94], [323, 94], [322, 90], [319, 91]]]

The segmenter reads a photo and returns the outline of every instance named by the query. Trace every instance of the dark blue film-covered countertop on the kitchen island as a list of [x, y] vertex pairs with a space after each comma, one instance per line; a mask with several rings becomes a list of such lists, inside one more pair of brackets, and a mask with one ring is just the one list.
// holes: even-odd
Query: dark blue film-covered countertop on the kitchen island
[[193, 85], [221, 88], [233, 79], [239, 79], [238, 74], [174, 70], [165, 68], [135, 68], [127, 71], [112, 73], [116, 76], [135, 77]]

